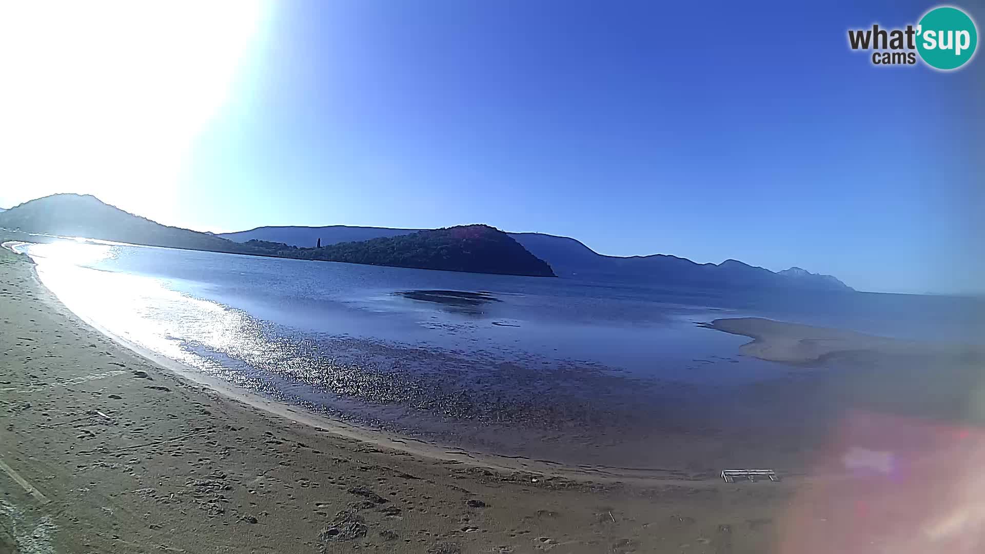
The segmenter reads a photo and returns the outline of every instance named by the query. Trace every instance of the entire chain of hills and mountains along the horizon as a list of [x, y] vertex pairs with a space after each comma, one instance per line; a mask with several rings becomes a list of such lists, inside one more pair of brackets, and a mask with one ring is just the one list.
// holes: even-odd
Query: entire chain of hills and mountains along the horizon
[[507, 234], [485, 225], [438, 230], [343, 225], [260, 227], [214, 235], [167, 227], [104, 204], [95, 196], [77, 194], [45, 196], [0, 212], [0, 228], [174, 248], [424, 269], [558, 275], [695, 288], [853, 290], [830, 275], [799, 267], [774, 273], [734, 259], [715, 264], [665, 254], [607, 256], [567, 237]]

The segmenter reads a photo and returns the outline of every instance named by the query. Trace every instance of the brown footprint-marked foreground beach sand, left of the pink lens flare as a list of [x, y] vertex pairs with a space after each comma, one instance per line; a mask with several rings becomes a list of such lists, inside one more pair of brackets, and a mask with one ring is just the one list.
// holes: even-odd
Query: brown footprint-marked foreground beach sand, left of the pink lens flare
[[341, 437], [188, 381], [0, 251], [0, 553], [761, 552], [791, 486], [592, 484]]

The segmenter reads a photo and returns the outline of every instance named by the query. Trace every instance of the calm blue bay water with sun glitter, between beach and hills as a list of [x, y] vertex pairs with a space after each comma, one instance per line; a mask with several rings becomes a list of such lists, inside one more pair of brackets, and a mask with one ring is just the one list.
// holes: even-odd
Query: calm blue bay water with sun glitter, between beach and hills
[[645, 465], [654, 437], [696, 425], [685, 414], [707, 410], [695, 402], [837, 371], [740, 356], [748, 339], [695, 322], [755, 315], [966, 343], [983, 329], [981, 303], [950, 297], [668, 290], [99, 242], [17, 249], [72, 311], [197, 371], [334, 417], [577, 463]]

